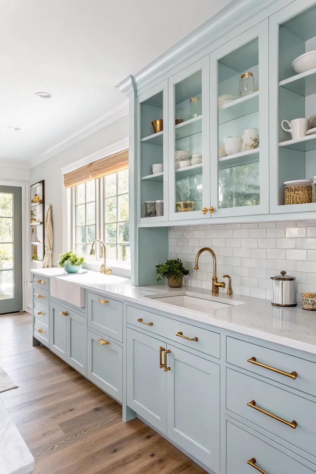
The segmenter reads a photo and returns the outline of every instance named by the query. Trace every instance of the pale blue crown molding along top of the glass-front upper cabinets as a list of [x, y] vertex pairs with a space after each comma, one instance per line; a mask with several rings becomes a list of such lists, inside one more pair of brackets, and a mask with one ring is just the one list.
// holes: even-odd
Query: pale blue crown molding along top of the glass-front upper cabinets
[[117, 88], [129, 95], [189, 59], [278, 0], [234, 0]]

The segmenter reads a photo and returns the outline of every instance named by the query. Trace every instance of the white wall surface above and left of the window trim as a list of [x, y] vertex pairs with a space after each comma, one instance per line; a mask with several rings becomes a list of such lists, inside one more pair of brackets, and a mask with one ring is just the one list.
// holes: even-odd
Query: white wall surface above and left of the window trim
[[[30, 169], [30, 182], [45, 180], [45, 208], [52, 205], [54, 246], [53, 264], [57, 264], [59, 255], [63, 250], [62, 228], [62, 173], [61, 168], [67, 164], [84, 158], [93, 152], [115, 143], [122, 138], [128, 137], [129, 125], [128, 116], [120, 118], [116, 122], [109, 124], [98, 132], [75, 143], [48, 160], [36, 164]], [[46, 211], [45, 209], [45, 211]]]

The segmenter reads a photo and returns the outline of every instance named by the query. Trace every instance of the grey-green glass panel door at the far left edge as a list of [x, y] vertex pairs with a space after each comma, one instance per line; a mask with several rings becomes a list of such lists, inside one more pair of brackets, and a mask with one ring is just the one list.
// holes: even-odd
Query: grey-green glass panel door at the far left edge
[[0, 314], [22, 310], [21, 188], [0, 186]]

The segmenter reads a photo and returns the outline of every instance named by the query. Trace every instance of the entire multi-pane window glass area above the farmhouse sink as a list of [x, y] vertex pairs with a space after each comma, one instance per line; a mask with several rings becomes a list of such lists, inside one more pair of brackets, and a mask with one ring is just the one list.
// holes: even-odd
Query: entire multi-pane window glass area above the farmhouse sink
[[73, 196], [77, 254], [89, 259], [91, 244], [99, 238], [106, 243], [108, 261], [129, 264], [128, 169], [79, 184]]

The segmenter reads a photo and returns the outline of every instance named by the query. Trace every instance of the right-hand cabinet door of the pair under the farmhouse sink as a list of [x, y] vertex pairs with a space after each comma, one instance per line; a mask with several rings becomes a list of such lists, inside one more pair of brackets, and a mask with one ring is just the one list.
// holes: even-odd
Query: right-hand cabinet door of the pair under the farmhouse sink
[[87, 318], [68, 310], [67, 363], [87, 376]]

